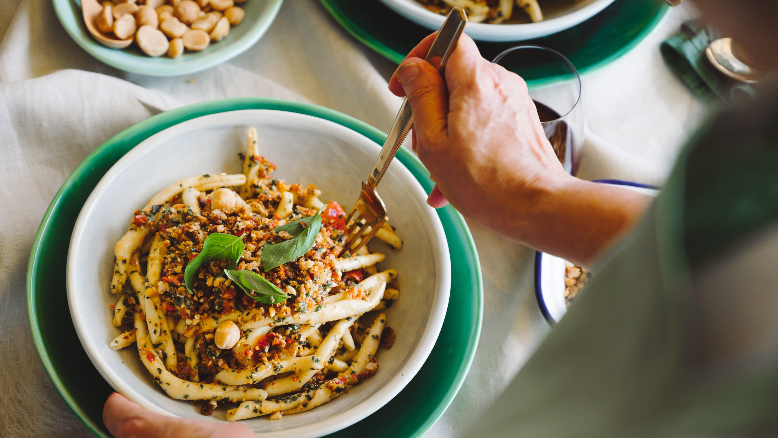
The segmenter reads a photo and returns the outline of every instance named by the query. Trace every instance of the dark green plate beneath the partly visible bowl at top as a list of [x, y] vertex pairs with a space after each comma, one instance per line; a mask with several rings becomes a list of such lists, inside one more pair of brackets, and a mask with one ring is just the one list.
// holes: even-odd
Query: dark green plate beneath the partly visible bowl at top
[[[378, 0], [320, 2], [357, 40], [396, 63], [431, 33]], [[669, 11], [670, 7], [661, 0], [616, 0], [584, 23], [548, 37], [507, 43], [477, 41], [477, 44], [486, 59], [493, 59], [499, 52], [518, 44], [551, 47], [569, 58], [580, 73], [591, 72], [630, 51]]]

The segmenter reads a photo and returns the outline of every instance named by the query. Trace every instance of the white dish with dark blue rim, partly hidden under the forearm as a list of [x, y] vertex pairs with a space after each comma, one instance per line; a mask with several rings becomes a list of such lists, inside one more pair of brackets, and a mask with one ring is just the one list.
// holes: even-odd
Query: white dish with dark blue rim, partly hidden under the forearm
[[[659, 187], [650, 184], [622, 180], [596, 180], [596, 183], [613, 184], [626, 190], [638, 191], [651, 196], [659, 194]], [[556, 324], [567, 313], [565, 296], [566, 261], [555, 255], [537, 251], [535, 254], [535, 296], [545, 320]], [[584, 274], [585, 275], [585, 274]], [[584, 293], [585, 290], [584, 290]]]

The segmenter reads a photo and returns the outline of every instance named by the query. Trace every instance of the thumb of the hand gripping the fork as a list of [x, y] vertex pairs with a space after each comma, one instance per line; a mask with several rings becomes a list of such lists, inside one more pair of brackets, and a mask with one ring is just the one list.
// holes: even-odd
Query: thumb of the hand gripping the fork
[[422, 149], [446, 135], [448, 125], [448, 89], [440, 73], [422, 58], [408, 58], [397, 69], [408, 103], [413, 110], [413, 125]]

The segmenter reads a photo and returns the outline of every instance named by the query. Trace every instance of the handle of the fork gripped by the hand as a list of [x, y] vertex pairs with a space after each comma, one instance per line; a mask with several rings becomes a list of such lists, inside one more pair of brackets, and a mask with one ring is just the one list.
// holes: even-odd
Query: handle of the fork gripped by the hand
[[[443, 26], [438, 31], [433, 45], [429, 47], [426, 58], [424, 58], [430, 64], [437, 65], [437, 71], [443, 77], [443, 80], [445, 80], [443, 70], [446, 68], [448, 58], [457, 47], [457, 41], [462, 34], [462, 30], [464, 30], [464, 25], [467, 23], [468, 16], [464, 13], [464, 10], [457, 7], [452, 8]], [[435, 58], [440, 58], [440, 61]], [[397, 154], [400, 145], [405, 140], [405, 136], [408, 135], [408, 131], [411, 130], [412, 126], [413, 113], [411, 104], [408, 103], [408, 98], [406, 97], [402, 101], [400, 112], [394, 118], [394, 123], [391, 125], [384, 147], [381, 148], [381, 152], [378, 154], [378, 159], [370, 172], [370, 177], [367, 178], [367, 184], [373, 190], [380, 182], [381, 177], [384, 177], [384, 173], [389, 168], [389, 163], [391, 163], [394, 155]]]

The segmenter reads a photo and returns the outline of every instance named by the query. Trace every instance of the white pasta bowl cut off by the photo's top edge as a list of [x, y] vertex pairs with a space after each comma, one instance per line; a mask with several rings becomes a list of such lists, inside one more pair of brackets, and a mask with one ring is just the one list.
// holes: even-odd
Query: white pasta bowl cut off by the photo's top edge
[[[410, 19], [412, 22], [428, 27], [430, 30], [438, 30], [443, 26], [445, 16], [425, 9], [415, 0], [380, 0], [389, 6], [394, 12]], [[605, 9], [614, 0], [578, 0], [566, 2], [566, 5], [557, 9], [550, 9], [548, 0], [541, 0], [541, 9], [544, 10], [545, 20], [538, 23], [525, 24], [485, 24], [468, 23], [464, 27], [474, 40], [483, 41], [521, 41], [532, 38], [545, 37], [552, 33], [561, 32], [587, 19]], [[551, 2], [553, 3], [553, 2]], [[559, 3], [559, 2], [557, 2]], [[544, 7], [545, 5], [545, 7]], [[550, 13], [547, 13], [550, 12]]]

